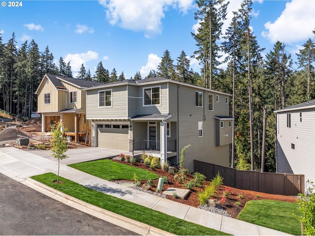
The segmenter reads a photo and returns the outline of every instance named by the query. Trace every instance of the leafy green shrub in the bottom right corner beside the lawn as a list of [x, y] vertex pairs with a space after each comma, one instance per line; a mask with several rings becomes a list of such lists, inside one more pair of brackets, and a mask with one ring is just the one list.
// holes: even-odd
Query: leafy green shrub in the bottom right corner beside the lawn
[[315, 235], [315, 184], [314, 182], [310, 182], [310, 185], [311, 187], [308, 188], [307, 194], [299, 194], [301, 198], [297, 203], [301, 215], [294, 214], [301, 222], [303, 228], [302, 235]]

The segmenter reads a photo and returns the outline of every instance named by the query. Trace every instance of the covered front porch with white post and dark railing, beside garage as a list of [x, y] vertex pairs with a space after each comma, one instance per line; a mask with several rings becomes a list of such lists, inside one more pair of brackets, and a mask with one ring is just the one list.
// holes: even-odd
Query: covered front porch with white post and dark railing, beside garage
[[146, 153], [160, 158], [161, 165], [170, 157], [177, 157], [176, 122], [169, 122], [171, 114], [138, 115], [131, 118], [130, 151], [133, 155]]

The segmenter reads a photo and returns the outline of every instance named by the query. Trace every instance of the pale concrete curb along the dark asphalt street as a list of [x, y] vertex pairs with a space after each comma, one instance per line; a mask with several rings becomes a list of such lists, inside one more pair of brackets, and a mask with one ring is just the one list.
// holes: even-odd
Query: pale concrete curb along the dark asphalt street
[[21, 183], [25, 184], [26, 186], [45, 194], [48, 197], [51, 197], [59, 202], [62, 202], [63, 204], [66, 204], [70, 207], [76, 208], [78, 210], [81, 210], [83, 212], [86, 212], [90, 215], [93, 215], [99, 219], [105, 220], [107, 222], [110, 222], [114, 225], [123, 227], [127, 230], [133, 231], [139, 235], [173, 235], [169, 232], [162, 231], [158, 228], [152, 227], [150, 225], [129, 219], [125, 216], [113, 213], [111, 211], [102, 209], [100, 207], [95, 207], [94, 205], [91, 205], [89, 203], [83, 202], [81, 200], [78, 200], [76, 198], [73, 198], [69, 195], [66, 195], [60, 191], [57, 191], [56, 189], [53, 189], [51, 187], [48, 187], [47, 185], [40, 183], [30, 177], [26, 178], [25, 181], [21, 181]]

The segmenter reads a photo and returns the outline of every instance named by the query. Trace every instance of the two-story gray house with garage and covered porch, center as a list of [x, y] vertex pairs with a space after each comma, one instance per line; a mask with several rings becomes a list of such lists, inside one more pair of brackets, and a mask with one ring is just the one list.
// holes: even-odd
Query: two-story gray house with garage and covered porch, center
[[148, 152], [161, 164], [193, 159], [230, 165], [232, 122], [230, 94], [163, 77], [123, 80], [83, 89], [87, 119], [92, 121], [92, 146]]

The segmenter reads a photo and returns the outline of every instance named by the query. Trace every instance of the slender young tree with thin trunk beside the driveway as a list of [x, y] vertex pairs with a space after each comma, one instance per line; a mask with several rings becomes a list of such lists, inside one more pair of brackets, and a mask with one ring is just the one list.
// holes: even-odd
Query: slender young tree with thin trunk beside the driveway
[[63, 126], [63, 121], [59, 121], [51, 125], [50, 132], [52, 136], [51, 140], [51, 155], [58, 159], [58, 175], [57, 183], [59, 183], [59, 169], [60, 169], [60, 160], [68, 158], [65, 152], [68, 149], [67, 139], [63, 137], [63, 131], [66, 131], [66, 128]]

